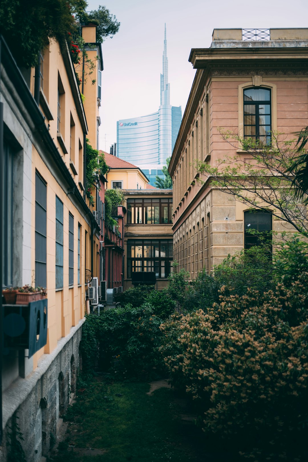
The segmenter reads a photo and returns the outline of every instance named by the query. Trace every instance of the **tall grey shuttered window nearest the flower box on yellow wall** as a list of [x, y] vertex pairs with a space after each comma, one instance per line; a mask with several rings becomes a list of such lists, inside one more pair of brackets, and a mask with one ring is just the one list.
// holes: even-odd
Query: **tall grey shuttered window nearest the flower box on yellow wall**
[[46, 287], [47, 267], [47, 185], [35, 174], [35, 285]]

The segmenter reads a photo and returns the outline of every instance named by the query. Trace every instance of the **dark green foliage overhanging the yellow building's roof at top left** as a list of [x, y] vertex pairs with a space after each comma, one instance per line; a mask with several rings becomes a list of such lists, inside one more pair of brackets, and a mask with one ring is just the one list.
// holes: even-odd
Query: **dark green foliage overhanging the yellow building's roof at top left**
[[82, 22], [97, 24], [97, 42], [113, 36], [120, 27], [105, 6], [87, 14], [85, 0], [2, 0], [0, 24], [11, 52], [19, 66], [36, 66], [39, 53], [55, 39], [66, 47], [68, 33], [80, 35]]

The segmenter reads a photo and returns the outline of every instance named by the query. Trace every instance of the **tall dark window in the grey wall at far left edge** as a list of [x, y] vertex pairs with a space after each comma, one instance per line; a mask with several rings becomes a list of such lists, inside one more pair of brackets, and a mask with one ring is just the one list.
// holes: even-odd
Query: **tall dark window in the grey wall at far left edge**
[[4, 142], [4, 183], [2, 189], [2, 286], [13, 284], [13, 154]]

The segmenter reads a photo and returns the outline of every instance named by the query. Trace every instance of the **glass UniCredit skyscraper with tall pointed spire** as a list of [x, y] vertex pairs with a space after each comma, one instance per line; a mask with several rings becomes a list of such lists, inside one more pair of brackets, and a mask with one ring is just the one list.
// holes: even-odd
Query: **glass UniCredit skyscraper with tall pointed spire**
[[160, 74], [160, 106], [148, 116], [117, 122], [118, 157], [138, 165], [154, 185], [156, 175], [172, 154], [181, 125], [181, 106], [170, 105], [166, 24], [163, 43], [163, 73]]

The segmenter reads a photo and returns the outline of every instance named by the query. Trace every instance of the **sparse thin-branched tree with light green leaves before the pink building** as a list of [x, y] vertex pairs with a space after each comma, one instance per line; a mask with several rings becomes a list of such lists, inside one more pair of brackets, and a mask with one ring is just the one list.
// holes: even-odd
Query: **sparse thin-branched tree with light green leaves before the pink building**
[[301, 189], [301, 182], [296, 178], [295, 141], [281, 140], [280, 135], [272, 133], [272, 145], [264, 146], [258, 140], [244, 140], [229, 131], [219, 131], [234, 149], [241, 144], [248, 157], [225, 156], [217, 160], [215, 166], [196, 162], [199, 173], [206, 177], [205, 182], [250, 207], [270, 209], [273, 216], [308, 236], [308, 208], [297, 200], [296, 193], [296, 189]]

